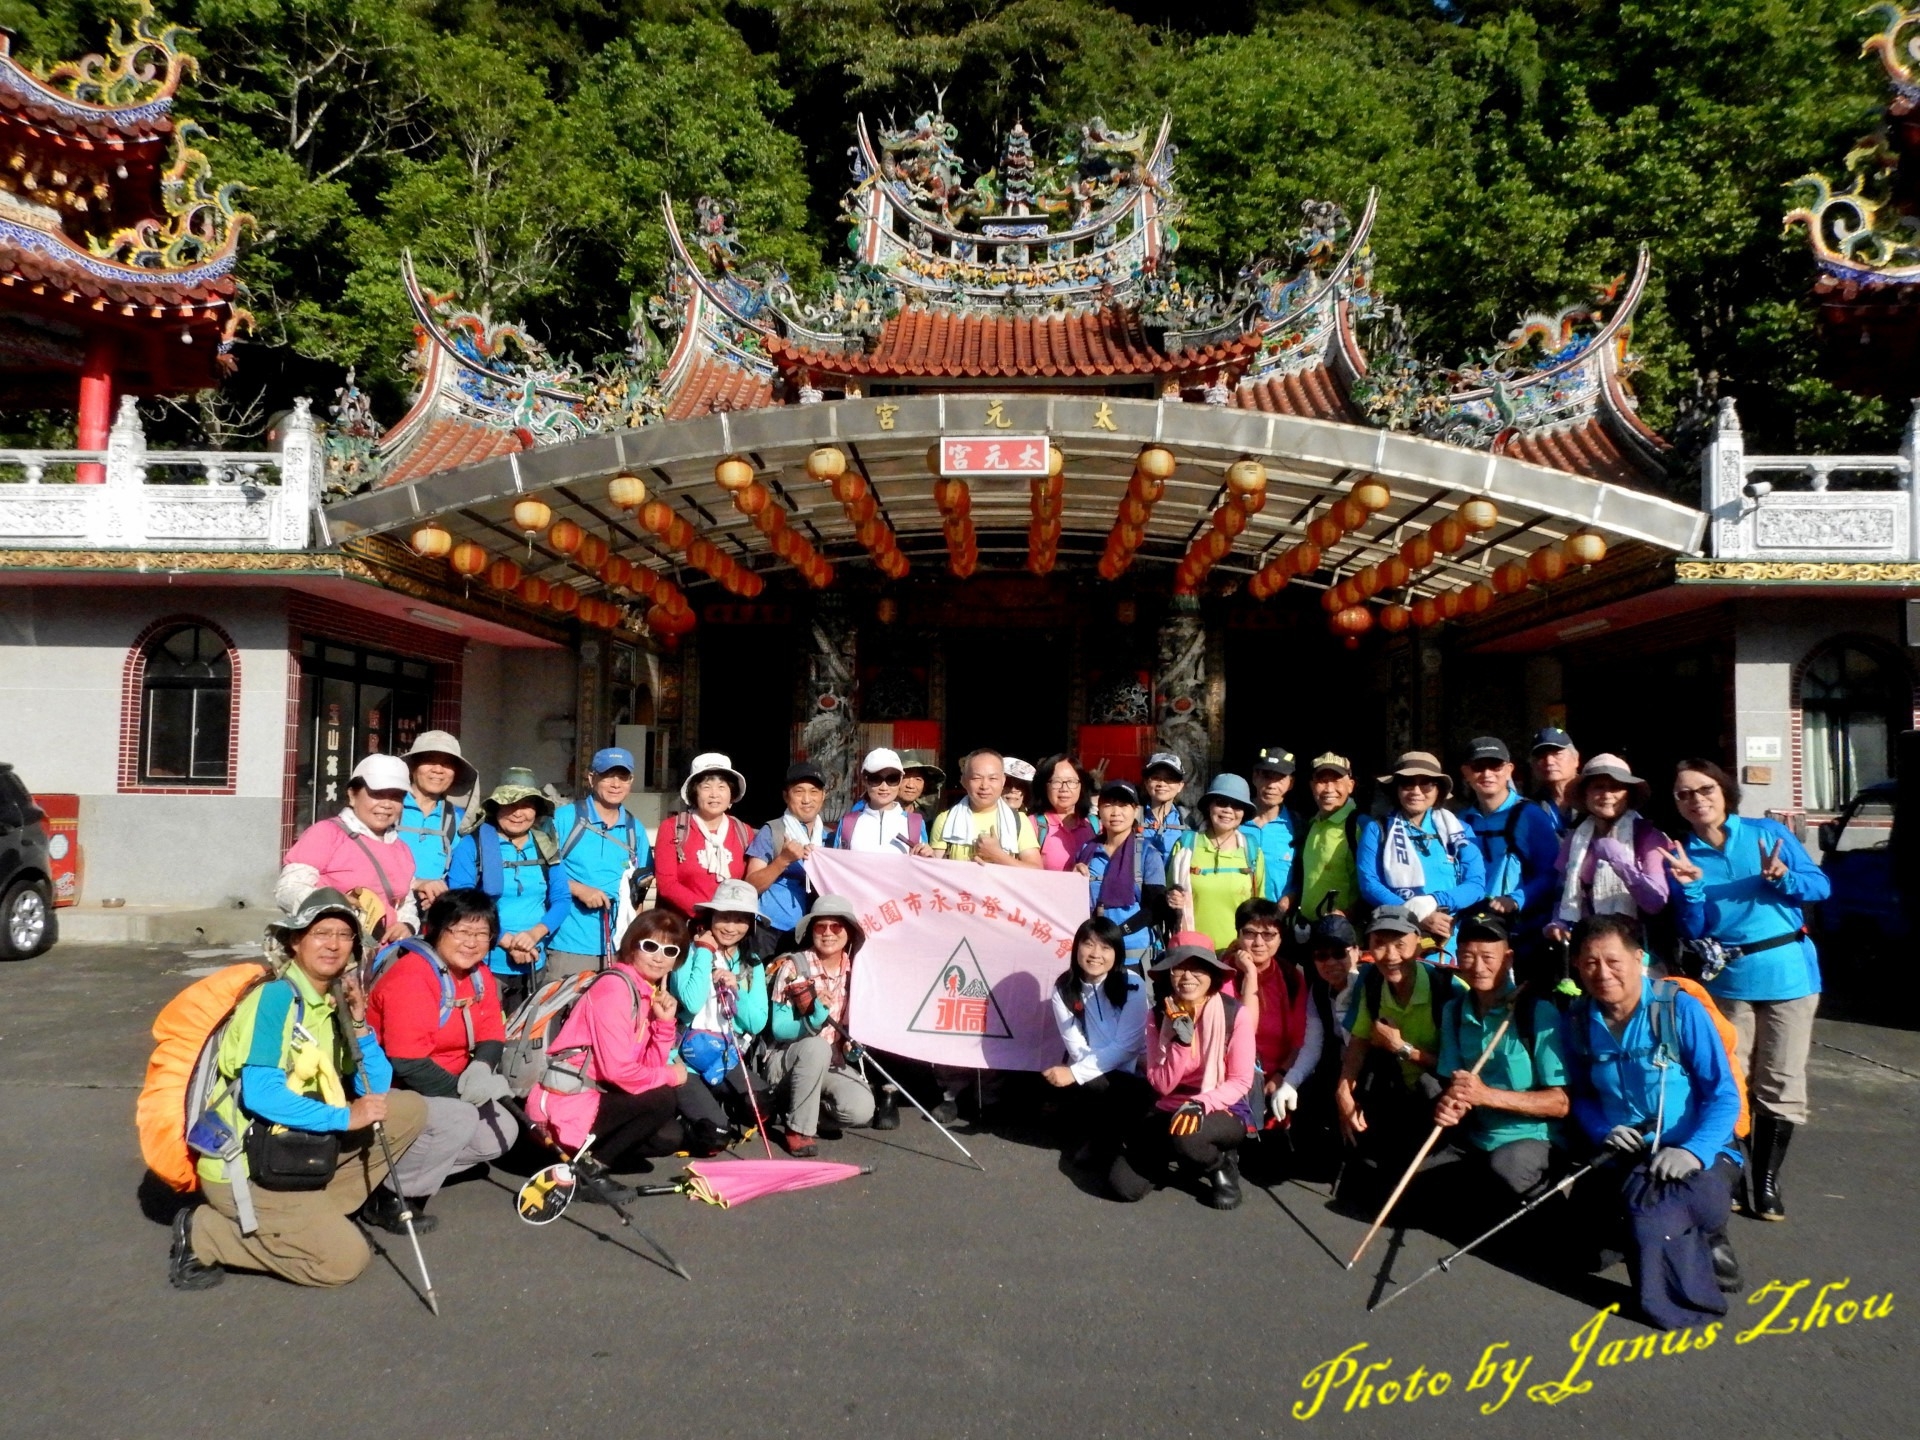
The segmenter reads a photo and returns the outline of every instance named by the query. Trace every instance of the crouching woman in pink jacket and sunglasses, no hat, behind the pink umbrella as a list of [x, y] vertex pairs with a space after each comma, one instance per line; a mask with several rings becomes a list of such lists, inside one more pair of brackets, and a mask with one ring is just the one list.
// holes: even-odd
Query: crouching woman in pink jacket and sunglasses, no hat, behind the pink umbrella
[[[666, 975], [685, 952], [680, 916], [636, 916], [612, 966], [561, 1025], [547, 1073], [526, 1100], [528, 1114], [551, 1125], [568, 1150], [595, 1137], [588, 1167], [597, 1165], [603, 1181], [609, 1169], [634, 1169], [636, 1160], [685, 1144], [678, 1100], [687, 1071], [672, 1058], [680, 1004], [666, 991]], [[595, 1187], [580, 1192], [599, 1198]], [[634, 1198], [620, 1185], [612, 1192], [620, 1202]]]

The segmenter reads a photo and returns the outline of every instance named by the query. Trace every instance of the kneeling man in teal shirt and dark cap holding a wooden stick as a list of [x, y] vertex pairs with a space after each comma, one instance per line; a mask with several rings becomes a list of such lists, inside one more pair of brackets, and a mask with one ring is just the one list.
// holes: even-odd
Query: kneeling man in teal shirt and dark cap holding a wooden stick
[[1428, 1167], [1471, 1167], [1475, 1194], [1461, 1200], [1480, 1212], [1486, 1198], [1501, 1206], [1526, 1200], [1546, 1179], [1548, 1121], [1567, 1114], [1567, 1068], [1559, 1010], [1515, 989], [1513, 947], [1500, 916], [1476, 914], [1461, 925], [1459, 977], [1467, 995], [1448, 1000], [1434, 1068], [1448, 1087], [1434, 1106], [1448, 1146]]

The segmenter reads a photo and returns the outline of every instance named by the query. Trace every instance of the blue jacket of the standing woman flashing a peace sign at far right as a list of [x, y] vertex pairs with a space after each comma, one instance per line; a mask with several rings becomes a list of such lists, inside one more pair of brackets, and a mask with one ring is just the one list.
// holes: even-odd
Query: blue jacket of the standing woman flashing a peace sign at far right
[[[1788, 862], [1778, 883], [1761, 879], [1761, 847], [1772, 851], [1774, 843]], [[1711, 935], [1720, 945], [1753, 945], [1788, 935], [1807, 924], [1805, 906], [1834, 891], [1826, 872], [1778, 820], [1730, 814], [1724, 849], [1690, 833], [1686, 854], [1701, 872], [1692, 885], [1674, 891], [1680, 933], [1690, 941]], [[1820, 958], [1812, 941], [1801, 937], [1793, 945], [1736, 956], [1707, 981], [1707, 991], [1720, 1000], [1799, 1000], [1820, 993]]]

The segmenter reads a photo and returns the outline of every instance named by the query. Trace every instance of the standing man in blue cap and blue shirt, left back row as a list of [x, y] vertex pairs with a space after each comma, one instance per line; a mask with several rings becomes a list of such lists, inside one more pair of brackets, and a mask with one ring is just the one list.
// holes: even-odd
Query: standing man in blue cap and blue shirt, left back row
[[622, 885], [653, 868], [647, 831], [626, 810], [634, 789], [634, 755], [618, 745], [593, 755], [588, 793], [563, 804], [553, 816], [561, 837], [559, 862], [566, 866], [572, 910], [547, 945], [547, 968], [555, 975], [601, 970], [620, 937]]

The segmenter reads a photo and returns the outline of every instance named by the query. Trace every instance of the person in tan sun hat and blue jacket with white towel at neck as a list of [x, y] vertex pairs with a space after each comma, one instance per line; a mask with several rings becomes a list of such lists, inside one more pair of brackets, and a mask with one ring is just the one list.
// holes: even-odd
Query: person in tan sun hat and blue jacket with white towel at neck
[[1486, 860], [1452, 810], [1442, 806], [1453, 781], [1427, 751], [1407, 751], [1379, 781], [1394, 804], [1386, 818], [1361, 820], [1359, 899], [1369, 906], [1404, 904], [1423, 935], [1453, 950], [1453, 916], [1486, 899]]

